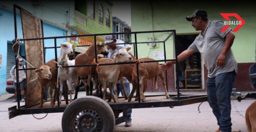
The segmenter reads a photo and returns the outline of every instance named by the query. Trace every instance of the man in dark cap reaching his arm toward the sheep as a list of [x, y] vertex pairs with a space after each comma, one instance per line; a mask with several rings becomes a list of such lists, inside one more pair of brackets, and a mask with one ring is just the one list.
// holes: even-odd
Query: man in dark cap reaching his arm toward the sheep
[[[231, 132], [230, 96], [237, 74], [237, 62], [231, 50], [235, 35], [230, 28], [220, 32], [225, 26], [224, 23], [219, 20], [208, 21], [204, 10], [195, 10], [186, 19], [192, 21], [192, 26], [201, 33], [187, 50], [179, 54], [178, 62], [195, 52], [201, 53], [208, 69], [208, 102], [219, 125], [216, 132]], [[169, 61], [161, 67], [166, 70], [175, 63], [175, 61]]]

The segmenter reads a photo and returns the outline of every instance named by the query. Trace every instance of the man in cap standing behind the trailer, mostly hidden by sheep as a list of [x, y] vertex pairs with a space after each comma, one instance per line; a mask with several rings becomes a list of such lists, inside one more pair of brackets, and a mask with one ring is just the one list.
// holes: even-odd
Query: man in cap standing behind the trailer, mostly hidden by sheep
[[[105, 36], [105, 43], [115, 44], [116, 43], [116, 35], [106, 35]], [[110, 49], [108, 50], [108, 55], [105, 56], [105, 58], [110, 58], [110, 59], [114, 59], [115, 53], [119, 49], [125, 49], [124, 46], [118, 46], [118, 45], [108, 45], [108, 47]], [[127, 96], [130, 96], [130, 82], [125, 77], [123, 77], [123, 81], [124, 81], [124, 90], [125, 90]], [[114, 91], [114, 89], [113, 89], [113, 91]], [[117, 96], [119, 96], [120, 92], [121, 92], [122, 96], [124, 96], [124, 92], [121, 89], [120, 81], [118, 81], [117, 82]], [[113, 92], [113, 93], [115, 94], [115, 92]], [[126, 127], [132, 126], [131, 114], [132, 114], [132, 109], [127, 109], [127, 121], [125, 122]]]

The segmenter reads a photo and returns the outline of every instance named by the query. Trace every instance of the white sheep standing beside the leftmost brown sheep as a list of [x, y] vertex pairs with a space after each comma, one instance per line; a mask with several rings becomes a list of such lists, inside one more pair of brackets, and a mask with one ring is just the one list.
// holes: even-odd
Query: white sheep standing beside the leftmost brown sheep
[[[75, 60], [69, 60], [67, 57], [67, 54], [73, 55], [73, 49], [76, 46], [69, 42], [65, 42], [61, 44], [60, 48], [60, 55], [58, 57], [58, 63], [61, 66], [73, 66], [75, 65]], [[62, 97], [62, 88], [63, 88], [63, 81], [68, 80], [69, 86], [68, 86], [68, 91], [69, 91], [69, 96], [70, 96], [70, 103], [72, 102], [72, 81], [74, 82], [75, 86], [78, 86], [78, 76], [75, 73], [75, 68], [74, 67], [67, 67], [67, 68], [60, 68], [58, 71], [58, 76], [59, 76], [59, 81], [60, 81], [60, 100]], [[68, 92], [67, 91], [67, 92]], [[60, 102], [61, 104], [61, 102]]]

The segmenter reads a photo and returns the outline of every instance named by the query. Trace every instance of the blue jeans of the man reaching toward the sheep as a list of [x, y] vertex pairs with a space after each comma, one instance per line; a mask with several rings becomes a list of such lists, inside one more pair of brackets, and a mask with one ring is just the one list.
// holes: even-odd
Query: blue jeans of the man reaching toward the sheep
[[214, 78], [207, 78], [208, 102], [222, 132], [231, 132], [230, 96], [235, 78], [235, 71], [221, 73]]

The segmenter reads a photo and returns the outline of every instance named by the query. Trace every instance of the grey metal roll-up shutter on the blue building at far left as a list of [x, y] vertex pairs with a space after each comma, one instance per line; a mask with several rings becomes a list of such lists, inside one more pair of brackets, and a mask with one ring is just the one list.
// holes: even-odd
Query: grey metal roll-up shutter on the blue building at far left
[[10, 70], [15, 65], [15, 56], [12, 50], [12, 44], [7, 43], [7, 68], [6, 68], [6, 80], [12, 78]]

